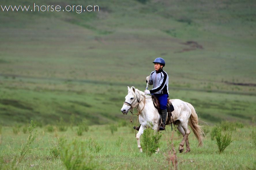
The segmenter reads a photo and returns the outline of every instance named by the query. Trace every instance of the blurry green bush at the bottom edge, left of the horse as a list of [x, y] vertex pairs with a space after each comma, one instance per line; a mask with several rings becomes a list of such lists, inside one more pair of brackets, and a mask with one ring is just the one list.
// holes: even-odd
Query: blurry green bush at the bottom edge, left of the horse
[[61, 142], [61, 161], [67, 169], [100, 169], [98, 163], [93, 160], [93, 156], [86, 152], [84, 146], [86, 146], [84, 142], [76, 140], [70, 144]]

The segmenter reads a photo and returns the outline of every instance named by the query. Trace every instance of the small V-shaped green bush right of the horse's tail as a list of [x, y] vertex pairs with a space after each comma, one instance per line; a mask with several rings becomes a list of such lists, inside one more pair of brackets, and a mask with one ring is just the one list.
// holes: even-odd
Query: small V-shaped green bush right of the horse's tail
[[232, 132], [226, 133], [224, 136], [221, 135], [221, 129], [216, 132], [216, 141], [219, 148], [219, 153], [223, 152], [227, 146], [233, 141], [231, 139]]

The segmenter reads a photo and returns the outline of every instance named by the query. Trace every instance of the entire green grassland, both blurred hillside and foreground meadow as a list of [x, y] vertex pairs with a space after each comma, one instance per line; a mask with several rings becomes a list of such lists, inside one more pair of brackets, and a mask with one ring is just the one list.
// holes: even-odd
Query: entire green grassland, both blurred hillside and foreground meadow
[[[1, 1], [0, 5], [33, 5], [34, 1]], [[159, 154], [138, 152], [131, 131], [109, 125], [129, 122], [120, 109], [127, 86], [146, 88], [153, 61], [162, 57], [169, 75], [169, 97], [191, 103], [212, 129], [229, 121], [243, 123], [222, 153], [209, 134], [191, 152], [177, 154], [179, 169], [255, 169], [251, 131], [256, 125], [256, 20], [254, 1], [90, 0], [40, 1], [37, 5], [99, 5], [99, 12], [0, 11], [0, 144], [5, 169], [63, 169], [50, 155], [54, 132], [47, 125], [89, 125], [89, 132], [59, 132], [68, 140], [102, 144], [88, 153], [96, 169], [166, 169], [170, 128], [163, 133]], [[150, 87], [149, 87], [150, 88]], [[28, 134], [12, 128], [37, 123], [32, 152], [16, 165]], [[206, 123], [203, 125], [207, 126]], [[40, 127], [39, 127], [40, 126]], [[128, 134], [128, 135], [127, 135]], [[121, 145], [116, 144], [122, 139]], [[175, 134], [175, 149], [181, 138]], [[69, 141], [70, 142], [70, 141]], [[118, 145], [118, 146], [117, 146]], [[163, 166], [162, 166], [163, 165]], [[161, 166], [161, 168], [159, 168]], [[1, 168], [0, 168], [1, 169]]]

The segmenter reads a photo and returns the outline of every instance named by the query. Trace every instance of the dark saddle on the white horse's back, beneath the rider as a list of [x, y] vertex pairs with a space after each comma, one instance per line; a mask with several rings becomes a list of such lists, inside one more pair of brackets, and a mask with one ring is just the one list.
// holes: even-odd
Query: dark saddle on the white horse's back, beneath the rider
[[[155, 95], [152, 95], [152, 100], [155, 108], [158, 110], [158, 113], [161, 115], [160, 103], [158, 98]], [[166, 118], [165, 125], [172, 124], [172, 121], [171, 121], [172, 111], [174, 111], [174, 107], [172, 105], [172, 102], [170, 101], [170, 98], [167, 98], [167, 118]]]

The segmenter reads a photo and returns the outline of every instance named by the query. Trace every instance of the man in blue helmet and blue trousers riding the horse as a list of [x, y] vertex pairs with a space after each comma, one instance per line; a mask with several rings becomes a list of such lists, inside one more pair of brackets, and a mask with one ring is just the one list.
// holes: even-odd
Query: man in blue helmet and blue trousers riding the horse
[[[151, 72], [150, 76], [146, 77], [146, 82], [149, 85], [153, 85], [152, 90], [145, 90], [145, 94], [152, 94], [158, 98], [160, 109], [161, 109], [161, 119], [159, 130], [165, 130], [166, 116], [167, 116], [167, 98], [169, 97], [168, 91], [168, 74], [163, 71], [165, 66], [165, 61], [162, 58], [156, 58], [153, 62], [155, 65], [155, 71]], [[135, 126], [133, 127], [136, 128]], [[139, 130], [140, 126], [136, 128]]]

